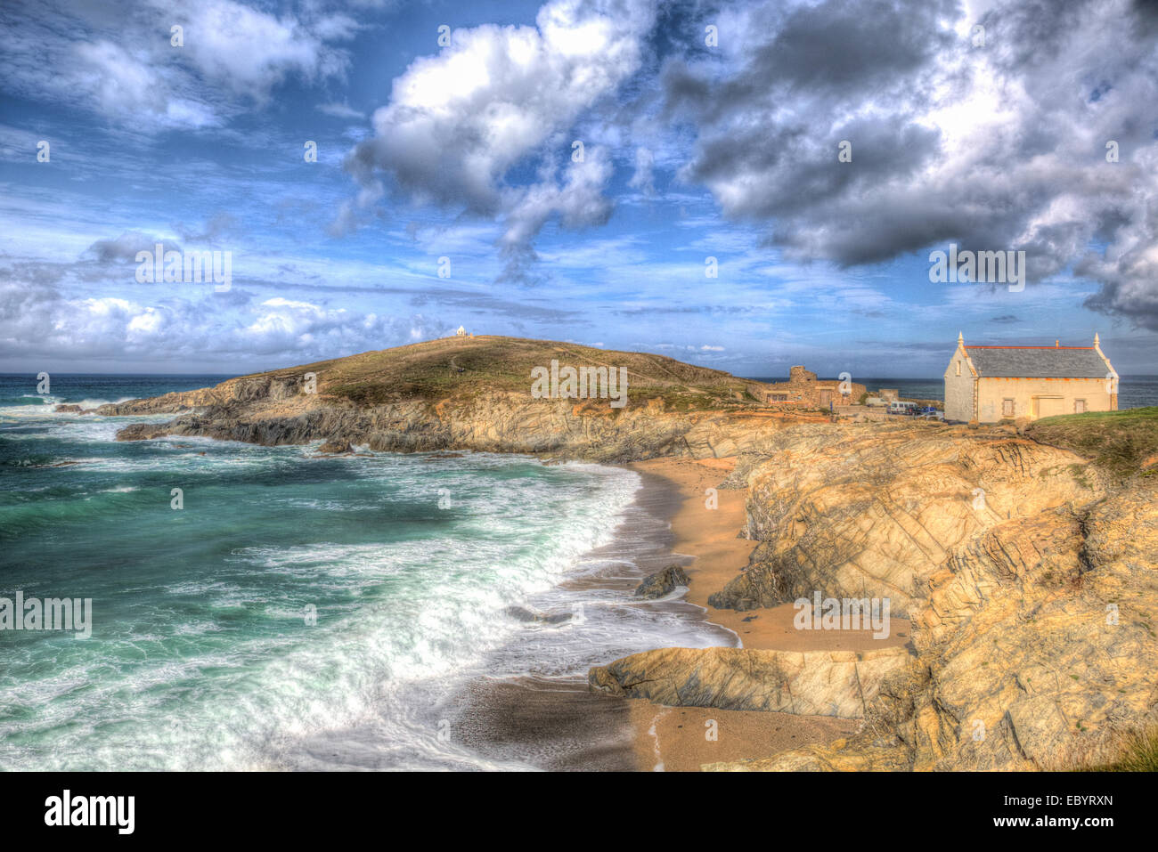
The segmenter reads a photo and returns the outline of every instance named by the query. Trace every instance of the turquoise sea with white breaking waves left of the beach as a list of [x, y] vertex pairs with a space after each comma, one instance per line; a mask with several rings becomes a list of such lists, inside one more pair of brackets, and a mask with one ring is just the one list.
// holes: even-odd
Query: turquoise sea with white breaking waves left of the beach
[[[688, 630], [559, 587], [600, 568], [585, 554], [632, 505], [631, 471], [116, 442], [148, 418], [53, 411], [217, 380], [0, 382], [0, 597], [93, 601], [88, 639], [0, 631], [0, 767], [294, 767], [296, 743], [368, 724], [375, 766], [485, 767], [440, 736], [463, 683], [581, 677]], [[513, 605], [587, 617], [528, 626]]]

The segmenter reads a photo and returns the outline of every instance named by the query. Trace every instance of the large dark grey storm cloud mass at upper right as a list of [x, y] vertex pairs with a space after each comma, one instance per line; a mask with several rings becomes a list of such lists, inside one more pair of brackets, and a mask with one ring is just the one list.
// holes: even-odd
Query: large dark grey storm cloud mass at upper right
[[661, 74], [666, 115], [697, 132], [681, 178], [798, 260], [1025, 250], [1029, 280], [1072, 269], [1102, 286], [1089, 307], [1158, 329], [1155, 5], [965, 14], [887, 0], [750, 12], [740, 49]]

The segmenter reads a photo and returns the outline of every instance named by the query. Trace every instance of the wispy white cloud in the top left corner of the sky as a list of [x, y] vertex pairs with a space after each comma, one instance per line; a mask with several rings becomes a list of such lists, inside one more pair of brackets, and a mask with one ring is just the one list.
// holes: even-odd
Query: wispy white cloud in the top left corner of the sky
[[[183, 46], [169, 28], [183, 28]], [[137, 132], [223, 125], [290, 78], [342, 78], [335, 46], [359, 24], [344, 14], [276, 16], [235, 0], [135, 6], [44, 0], [0, 28], [7, 90], [95, 110]]]

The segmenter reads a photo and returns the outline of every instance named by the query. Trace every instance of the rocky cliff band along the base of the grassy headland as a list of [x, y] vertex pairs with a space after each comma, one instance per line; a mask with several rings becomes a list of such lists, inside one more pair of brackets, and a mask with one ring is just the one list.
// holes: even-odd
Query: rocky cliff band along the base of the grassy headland
[[265, 376], [102, 405], [97, 413], [178, 414], [164, 424], [125, 427], [117, 439], [126, 441], [162, 435], [203, 435], [267, 446], [344, 440], [374, 450], [550, 453], [592, 461], [659, 455], [706, 458], [756, 451], [793, 423], [767, 412], [677, 413], [654, 405], [611, 409], [606, 401], [534, 399], [529, 394], [511, 392], [367, 406], [303, 392], [300, 379]]

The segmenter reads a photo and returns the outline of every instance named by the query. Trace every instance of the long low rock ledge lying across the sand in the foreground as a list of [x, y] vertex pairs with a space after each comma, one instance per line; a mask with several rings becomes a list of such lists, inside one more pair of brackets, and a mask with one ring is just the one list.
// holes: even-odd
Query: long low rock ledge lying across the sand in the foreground
[[660, 648], [593, 668], [593, 690], [669, 706], [864, 718], [885, 676], [909, 652]]

